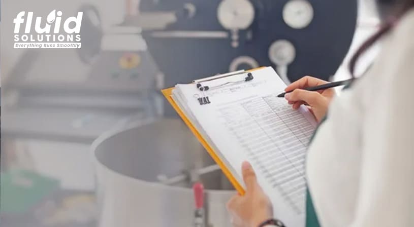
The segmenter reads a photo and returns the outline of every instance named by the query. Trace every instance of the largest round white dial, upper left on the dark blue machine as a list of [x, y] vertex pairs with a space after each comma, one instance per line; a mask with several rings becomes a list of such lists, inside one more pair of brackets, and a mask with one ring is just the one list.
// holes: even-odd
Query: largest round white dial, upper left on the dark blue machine
[[253, 23], [254, 8], [249, 0], [222, 0], [217, 8], [217, 18], [226, 29], [246, 29]]

